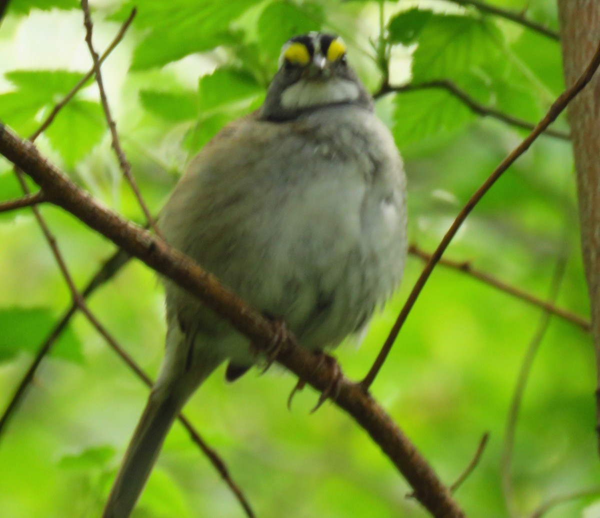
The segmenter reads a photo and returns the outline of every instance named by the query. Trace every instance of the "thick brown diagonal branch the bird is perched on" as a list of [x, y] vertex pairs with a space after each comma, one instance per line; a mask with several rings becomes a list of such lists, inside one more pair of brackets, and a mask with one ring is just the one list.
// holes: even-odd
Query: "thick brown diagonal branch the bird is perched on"
[[[205, 302], [235, 329], [250, 338], [257, 348], [266, 350], [277, 336], [273, 323], [250, 308], [239, 297], [221, 286], [214, 276], [194, 261], [168, 246], [118, 214], [98, 204], [88, 193], [71, 182], [32, 144], [0, 126], [0, 153], [40, 185], [52, 203], [61, 206], [97, 230], [116, 245], [136, 256], [158, 273]], [[320, 392], [332, 383], [332, 371], [310, 351], [300, 347], [293, 336], [277, 354], [277, 361]], [[436, 518], [463, 518], [465, 515], [443, 486], [427, 460], [392, 421], [383, 408], [359, 384], [341, 377], [335, 404], [352, 415], [374, 442], [404, 475], [415, 490], [416, 499]]]

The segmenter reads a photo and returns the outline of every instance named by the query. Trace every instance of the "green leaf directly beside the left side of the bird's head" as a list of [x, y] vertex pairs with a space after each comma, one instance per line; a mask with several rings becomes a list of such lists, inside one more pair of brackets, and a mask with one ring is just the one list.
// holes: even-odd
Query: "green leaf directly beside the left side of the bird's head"
[[200, 77], [198, 83], [200, 110], [213, 110], [261, 92], [253, 76], [233, 68], [218, 68], [211, 75]]

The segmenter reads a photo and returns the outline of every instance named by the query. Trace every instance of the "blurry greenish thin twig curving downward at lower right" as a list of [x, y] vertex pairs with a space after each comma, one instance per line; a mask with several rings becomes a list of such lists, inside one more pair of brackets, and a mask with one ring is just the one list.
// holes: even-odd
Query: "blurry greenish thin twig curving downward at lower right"
[[[568, 227], [566, 228], [568, 229]], [[566, 236], [565, 239], [563, 239], [563, 243], [566, 243]], [[560, 247], [561, 253], [562, 250], [563, 246]], [[554, 303], [558, 297], [560, 285], [565, 276], [566, 262], [566, 255], [561, 255], [556, 263], [550, 290], [548, 291], [548, 302], [550, 303]], [[535, 360], [539, 346], [542, 344], [548, 326], [550, 326], [551, 318], [552, 314], [549, 311], [544, 311], [541, 315], [538, 328], [529, 343], [529, 347], [527, 347], [523, 363], [521, 363], [517, 384], [515, 385], [515, 390], [512, 394], [511, 405], [509, 406], [508, 417], [506, 418], [506, 431], [502, 444], [502, 459], [500, 460], [500, 479], [502, 481], [502, 492], [506, 501], [506, 507], [508, 508], [509, 516], [513, 518], [520, 515], [515, 507], [512, 486], [512, 453], [514, 451], [515, 435], [517, 433], [517, 421], [521, 403], [523, 402], [525, 388], [527, 387], [527, 381], [529, 381], [529, 375], [532, 371], [533, 360]]]

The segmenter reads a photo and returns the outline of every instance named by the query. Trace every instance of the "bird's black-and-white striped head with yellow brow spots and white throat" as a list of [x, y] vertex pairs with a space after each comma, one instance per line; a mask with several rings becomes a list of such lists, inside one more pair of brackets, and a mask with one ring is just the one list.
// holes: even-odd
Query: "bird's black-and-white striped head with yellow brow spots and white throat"
[[373, 99], [346, 63], [343, 41], [321, 32], [287, 41], [260, 118], [289, 121], [320, 107], [343, 104], [373, 109]]

